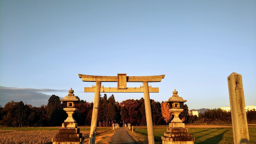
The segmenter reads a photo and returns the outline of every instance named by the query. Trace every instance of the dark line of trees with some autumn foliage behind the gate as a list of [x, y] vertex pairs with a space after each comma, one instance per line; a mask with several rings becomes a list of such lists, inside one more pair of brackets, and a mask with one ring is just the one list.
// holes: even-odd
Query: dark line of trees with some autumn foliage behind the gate
[[[170, 105], [165, 102], [150, 100], [152, 120], [154, 125], [163, 125], [169, 123], [173, 116], [170, 113]], [[58, 96], [52, 95], [47, 105], [41, 107], [32, 107], [32, 105], [20, 102], [8, 102], [2, 108], [0, 106], [0, 125], [3, 126], [60, 126], [67, 118], [63, 108], [67, 107], [66, 102], [61, 102]], [[79, 125], [91, 125], [93, 103], [79, 100], [75, 104], [78, 111], [73, 115]], [[214, 120], [231, 120], [230, 112], [221, 109], [211, 109], [199, 118], [188, 111], [188, 106], [181, 104], [183, 112], [179, 115], [184, 123], [193, 123], [193, 121], [214, 121]], [[248, 120], [256, 119], [256, 111], [247, 112]], [[146, 112], [144, 99], [124, 100], [117, 102], [112, 94], [109, 98], [104, 94], [100, 97], [98, 125], [111, 126], [112, 123], [132, 125], [146, 125]]]

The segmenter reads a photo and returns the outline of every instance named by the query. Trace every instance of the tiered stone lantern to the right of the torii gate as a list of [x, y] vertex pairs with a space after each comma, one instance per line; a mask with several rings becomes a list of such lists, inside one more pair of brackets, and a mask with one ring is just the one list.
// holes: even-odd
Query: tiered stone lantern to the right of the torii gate
[[191, 134], [188, 133], [188, 128], [185, 128], [185, 124], [179, 118], [180, 112], [183, 109], [180, 108], [180, 103], [184, 103], [187, 100], [183, 100], [182, 97], [179, 97], [178, 92], [174, 89], [172, 92], [172, 97], [169, 98], [167, 103], [171, 103], [171, 109], [174, 118], [167, 128], [167, 132], [164, 133], [164, 136], [161, 137], [163, 144], [194, 144], [195, 138], [191, 137]]

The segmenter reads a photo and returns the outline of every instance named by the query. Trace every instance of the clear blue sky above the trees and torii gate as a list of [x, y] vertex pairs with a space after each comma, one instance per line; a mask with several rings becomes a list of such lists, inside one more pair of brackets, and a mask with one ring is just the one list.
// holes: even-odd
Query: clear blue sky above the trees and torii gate
[[[16, 89], [64, 97], [72, 87], [92, 102], [84, 87], [95, 83], [78, 73], [126, 73], [165, 75], [149, 83], [159, 87], [150, 93], [156, 101], [176, 89], [189, 109], [219, 108], [229, 106], [227, 77], [236, 72], [245, 104], [256, 105], [256, 1], [1, 1], [0, 16], [1, 100]], [[121, 102], [143, 93], [114, 96]]]

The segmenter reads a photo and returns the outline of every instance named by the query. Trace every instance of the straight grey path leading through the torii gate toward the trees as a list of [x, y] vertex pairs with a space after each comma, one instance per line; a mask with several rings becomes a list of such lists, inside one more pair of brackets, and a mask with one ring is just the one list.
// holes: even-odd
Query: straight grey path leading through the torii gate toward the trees
[[117, 129], [110, 144], [139, 144], [124, 127]]

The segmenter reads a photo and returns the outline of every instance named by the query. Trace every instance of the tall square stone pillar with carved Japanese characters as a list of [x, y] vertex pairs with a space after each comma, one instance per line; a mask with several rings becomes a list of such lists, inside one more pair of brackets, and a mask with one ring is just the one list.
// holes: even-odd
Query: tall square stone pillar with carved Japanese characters
[[242, 75], [233, 72], [228, 76], [228, 92], [235, 144], [249, 144]]

